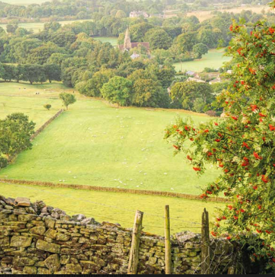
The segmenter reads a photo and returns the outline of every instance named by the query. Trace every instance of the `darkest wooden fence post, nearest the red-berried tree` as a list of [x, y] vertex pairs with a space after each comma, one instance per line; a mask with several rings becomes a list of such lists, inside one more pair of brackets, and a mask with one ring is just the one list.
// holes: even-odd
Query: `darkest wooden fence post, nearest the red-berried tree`
[[211, 274], [209, 213], [206, 209], [202, 213], [202, 274]]

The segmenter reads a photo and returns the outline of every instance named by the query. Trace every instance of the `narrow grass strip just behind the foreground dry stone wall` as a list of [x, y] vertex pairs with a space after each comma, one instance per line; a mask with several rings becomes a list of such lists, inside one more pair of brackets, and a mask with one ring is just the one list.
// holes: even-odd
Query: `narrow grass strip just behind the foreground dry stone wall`
[[[200, 225], [193, 225], [189, 222], [201, 222], [202, 210], [205, 207], [210, 213], [210, 219], [214, 217], [216, 207], [224, 207], [224, 204], [179, 198], [76, 191], [73, 189], [49, 189], [15, 184], [0, 184], [0, 195], [12, 198], [27, 197], [33, 202], [44, 200], [46, 204], [63, 209], [70, 216], [83, 213], [87, 217], [95, 218], [98, 222], [118, 222], [123, 227], [130, 228], [133, 227], [135, 211], [139, 209], [145, 213], [144, 231], [158, 233], [162, 236], [164, 236], [164, 221], [160, 217], [164, 216], [166, 204], [169, 204], [171, 218], [173, 218], [171, 219], [172, 233], [184, 230], [200, 233]], [[111, 207], [96, 203], [103, 203]], [[124, 211], [124, 209], [129, 211]]]

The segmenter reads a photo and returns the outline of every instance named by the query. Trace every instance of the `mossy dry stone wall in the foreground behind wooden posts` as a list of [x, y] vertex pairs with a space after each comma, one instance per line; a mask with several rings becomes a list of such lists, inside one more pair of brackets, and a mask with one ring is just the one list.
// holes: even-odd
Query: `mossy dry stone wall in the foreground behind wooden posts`
[[[67, 216], [44, 202], [0, 196], [0, 274], [126, 274], [132, 230], [83, 215]], [[216, 274], [238, 268], [242, 254], [225, 240], [211, 242]], [[200, 273], [200, 235], [172, 240], [174, 274]], [[139, 274], [164, 274], [164, 238], [142, 233]]]

